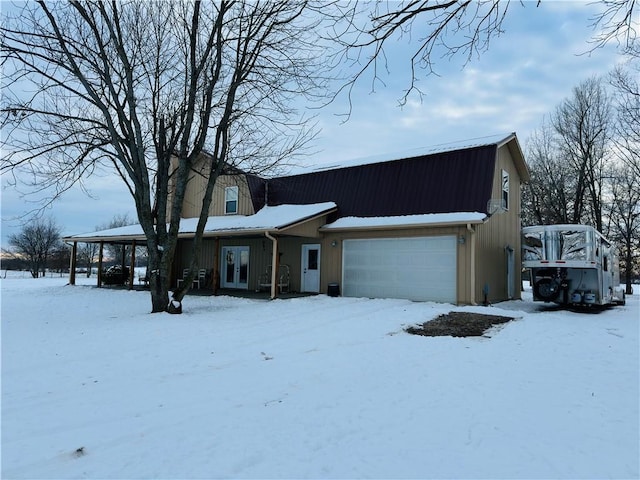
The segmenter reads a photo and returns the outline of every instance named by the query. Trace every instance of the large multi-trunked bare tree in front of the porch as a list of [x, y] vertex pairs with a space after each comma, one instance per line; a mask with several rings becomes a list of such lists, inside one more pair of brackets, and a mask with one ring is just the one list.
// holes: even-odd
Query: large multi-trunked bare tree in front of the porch
[[[7, 133], [4, 171], [24, 168], [57, 194], [96, 170], [128, 187], [146, 235], [152, 311], [169, 299], [190, 172], [206, 156], [208, 184], [193, 241], [195, 275], [217, 176], [266, 168], [313, 136], [293, 107], [320, 98], [321, 5], [255, 2], [27, 3], [2, 26]], [[28, 82], [25, 88], [25, 82]]]

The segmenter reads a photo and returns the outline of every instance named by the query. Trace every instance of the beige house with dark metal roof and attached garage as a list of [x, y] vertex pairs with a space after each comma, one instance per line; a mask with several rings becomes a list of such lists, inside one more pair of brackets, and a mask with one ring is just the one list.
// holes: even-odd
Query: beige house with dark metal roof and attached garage
[[[216, 184], [200, 268], [216, 290], [257, 290], [271, 265], [286, 265], [298, 292], [454, 304], [520, 298], [528, 180], [515, 133], [274, 178], [229, 172]], [[189, 264], [204, 182], [194, 175], [187, 187], [173, 282]], [[65, 240], [144, 244], [135, 226]]]

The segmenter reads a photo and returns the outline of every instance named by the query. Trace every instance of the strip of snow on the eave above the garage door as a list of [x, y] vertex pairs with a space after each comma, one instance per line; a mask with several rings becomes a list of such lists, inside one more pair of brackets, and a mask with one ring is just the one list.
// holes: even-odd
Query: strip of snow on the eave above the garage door
[[394, 217], [344, 217], [325, 225], [322, 227], [322, 230], [482, 223], [486, 218], [487, 215], [485, 213], [478, 212], [428, 213], [424, 215], [400, 215]]

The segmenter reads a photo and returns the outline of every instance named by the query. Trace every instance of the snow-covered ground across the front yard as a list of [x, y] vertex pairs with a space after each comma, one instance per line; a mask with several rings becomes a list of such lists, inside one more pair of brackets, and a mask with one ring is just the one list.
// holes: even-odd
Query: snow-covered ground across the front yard
[[[4, 479], [640, 475], [638, 294], [597, 314], [530, 292], [187, 297], [171, 316], [65, 283], [0, 280]], [[451, 310], [517, 320], [490, 338], [403, 330]]]

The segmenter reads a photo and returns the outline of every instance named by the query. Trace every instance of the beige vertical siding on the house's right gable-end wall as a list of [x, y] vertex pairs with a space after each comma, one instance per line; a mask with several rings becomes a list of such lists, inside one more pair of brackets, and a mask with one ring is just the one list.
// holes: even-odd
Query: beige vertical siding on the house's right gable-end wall
[[506, 146], [498, 149], [491, 198], [502, 196], [501, 171], [509, 172], [509, 210], [493, 215], [477, 228], [476, 285], [478, 303], [484, 301], [483, 289], [488, 287], [488, 301], [507, 300], [507, 247], [514, 250], [514, 298], [520, 298], [520, 218], [521, 180]]

